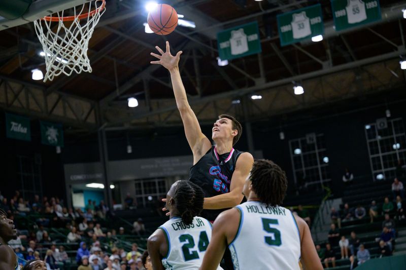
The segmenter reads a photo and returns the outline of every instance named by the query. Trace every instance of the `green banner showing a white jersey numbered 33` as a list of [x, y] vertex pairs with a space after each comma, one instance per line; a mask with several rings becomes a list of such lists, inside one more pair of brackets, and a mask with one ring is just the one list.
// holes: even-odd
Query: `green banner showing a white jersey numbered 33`
[[279, 14], [277, 19], [281, 46], [324, 34], [323, 14], [320, 4]]

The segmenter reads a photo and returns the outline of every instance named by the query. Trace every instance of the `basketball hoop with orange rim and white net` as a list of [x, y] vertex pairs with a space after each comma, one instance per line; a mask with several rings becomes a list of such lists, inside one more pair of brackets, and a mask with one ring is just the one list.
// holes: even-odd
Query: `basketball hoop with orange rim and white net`
[[[61, 73], [70, 76], [73, 71], [78, 74], [82, 71], [92, 72], [87, 50], [94, 27], [106, 11], [105, 6], [105, 0], [95, 0], [93, 4], [88, 2], [34, 22], [44, 50], [41, 53], [47, 69], [44, 82], [52, 81]], [[73, 15], [63, 16], [66, 13]]]

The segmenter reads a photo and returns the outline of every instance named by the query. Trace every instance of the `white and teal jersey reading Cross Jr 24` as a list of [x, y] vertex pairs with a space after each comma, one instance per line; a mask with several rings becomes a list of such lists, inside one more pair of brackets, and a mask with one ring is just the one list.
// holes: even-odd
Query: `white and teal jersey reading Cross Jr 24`
[[168, 245], [162, 265], [166, 269], [197, 270], [212, 238], [212, 224], [196, 216], [191, 224], [186, 225], [180, 217], [173, 217], [159, 228], [163, 230]]

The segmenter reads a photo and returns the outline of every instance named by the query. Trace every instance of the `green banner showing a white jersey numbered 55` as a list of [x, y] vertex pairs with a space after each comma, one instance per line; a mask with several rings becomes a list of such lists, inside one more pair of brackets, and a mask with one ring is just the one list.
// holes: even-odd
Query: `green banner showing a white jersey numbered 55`
[[331, 0], [336, 31], [381, 20], [379, 0]]

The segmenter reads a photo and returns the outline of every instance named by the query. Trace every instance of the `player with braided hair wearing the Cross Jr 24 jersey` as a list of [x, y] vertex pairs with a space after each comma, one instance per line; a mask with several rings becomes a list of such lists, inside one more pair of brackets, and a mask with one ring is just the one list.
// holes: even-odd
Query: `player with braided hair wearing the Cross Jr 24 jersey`
[[203, 190], [191, 181], [181, 180], [171, 186], [166, 194], [170, 219], [148, 238], [154, 270], [199, 268], [212, 236], [211, 223], [198, 216], [204, 198]]

